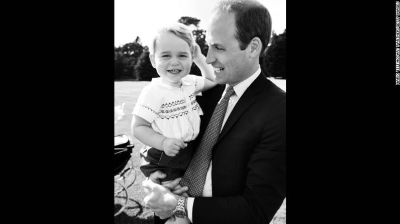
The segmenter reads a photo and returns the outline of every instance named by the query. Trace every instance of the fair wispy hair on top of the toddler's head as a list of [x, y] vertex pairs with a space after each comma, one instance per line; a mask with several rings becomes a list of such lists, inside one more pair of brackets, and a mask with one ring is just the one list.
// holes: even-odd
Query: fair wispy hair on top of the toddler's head
[[178, 38], [184, 40], [190, 48], [190, 53], [193, 56], [194, 54], [194, 37], [193, 34], [191, 33], [191, 30], [188, 26], [181, 24], [181, 23], [173, 23], [168, 26], [165, 26], [161, 29], [159, 29], [156, 33], [156, 35], [153, 38], [153, 41], [151, 42], [149, 46], [149, 51], [150, 54], [154, 54], [155, 52], [155, 47], [156, 47], [156, 41], [158, 38], [164, 34], [164, 33], [172, 33], [176, 35]]

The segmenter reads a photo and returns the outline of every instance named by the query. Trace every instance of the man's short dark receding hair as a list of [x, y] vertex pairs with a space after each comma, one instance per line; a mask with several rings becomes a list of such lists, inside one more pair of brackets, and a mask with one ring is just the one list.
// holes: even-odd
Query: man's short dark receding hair
[[214, 11], [235, 15], [235, 37], [241, 50], [246, 49], [250, 41], [258, 37], [262, 42], [260, 56], [263, 54], [271, 37], [271, 16], [267, 8], [255, 0], [223, 0]]

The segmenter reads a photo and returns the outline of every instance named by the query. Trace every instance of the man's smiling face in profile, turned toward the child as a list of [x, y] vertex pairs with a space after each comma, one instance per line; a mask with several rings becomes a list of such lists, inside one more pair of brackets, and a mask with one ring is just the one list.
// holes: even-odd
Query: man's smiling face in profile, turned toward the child
[[247, 48], [240, 50], [235, 38], [234, 14], [222, 13], [213, 17], [207, 31], [210, 45], [206, 62], [214, 67], [218, 84], [234, 86], [251, 74]]

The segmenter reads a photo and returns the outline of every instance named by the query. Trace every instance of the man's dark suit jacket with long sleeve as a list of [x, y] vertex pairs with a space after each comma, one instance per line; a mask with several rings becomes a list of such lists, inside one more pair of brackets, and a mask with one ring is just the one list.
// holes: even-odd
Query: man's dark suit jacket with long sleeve
[[[198, 97], [201, 139], [225, 85]], [[286, 93], [263, 73], [237, 102], [213, 148], [212, 197], [195, 197], [193, 224], [269, 223], [286, 197]]]

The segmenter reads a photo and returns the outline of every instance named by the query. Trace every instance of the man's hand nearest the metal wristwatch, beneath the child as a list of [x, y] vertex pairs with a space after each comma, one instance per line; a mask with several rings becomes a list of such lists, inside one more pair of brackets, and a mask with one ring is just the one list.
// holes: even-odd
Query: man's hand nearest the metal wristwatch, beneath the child
[[173, 210], [178, 204], [179, 195], [173, 194], [166, 187], [150, 179], [144, 180], [142, 186], [150, 192], [143, 201], [157, 216], [165, 219], [174, 214]]

